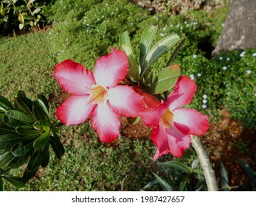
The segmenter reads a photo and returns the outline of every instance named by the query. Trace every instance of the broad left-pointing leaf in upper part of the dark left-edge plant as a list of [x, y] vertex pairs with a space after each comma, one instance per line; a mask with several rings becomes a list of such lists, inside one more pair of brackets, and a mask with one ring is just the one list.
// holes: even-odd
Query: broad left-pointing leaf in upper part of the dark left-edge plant
[[10, 127], [32, 124], [34, 120], [24, 113], [17, 110], [9, 110], [3, 117], [4, 124]]

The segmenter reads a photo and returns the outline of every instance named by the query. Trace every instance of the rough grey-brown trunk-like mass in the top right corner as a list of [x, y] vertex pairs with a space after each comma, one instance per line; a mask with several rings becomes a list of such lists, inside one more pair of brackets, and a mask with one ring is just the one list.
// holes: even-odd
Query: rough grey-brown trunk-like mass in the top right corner
[[256, 1], [232, 0], [212, 56], [221, 51], [256, 48]]

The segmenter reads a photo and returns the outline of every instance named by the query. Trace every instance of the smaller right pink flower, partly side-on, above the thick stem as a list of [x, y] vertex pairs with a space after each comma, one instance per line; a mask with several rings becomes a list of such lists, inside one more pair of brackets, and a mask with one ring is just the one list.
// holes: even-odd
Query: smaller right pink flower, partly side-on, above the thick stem
[[144, 103], [147, 107], [139, 116], [147, 127], [153, 127], [151, 140], [157, 146], [154, 160], [168, 153], [181, 157], [190, 146], [190, 135], [203, 135], [207, 132], [207, 116], [196, 110], [180, 108], [190, 104], [196, 93], [196, 83], [189, 77], [179, 77], [173, 93], [170, 93], [166, 102], [160, 103], [143, 91], [139, 93], [145, 97]]

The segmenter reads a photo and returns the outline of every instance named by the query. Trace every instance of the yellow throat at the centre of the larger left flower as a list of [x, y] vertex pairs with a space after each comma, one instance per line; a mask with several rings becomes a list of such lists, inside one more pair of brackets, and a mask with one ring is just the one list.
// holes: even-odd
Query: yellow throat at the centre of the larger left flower
[[89, 93], [91, 94], [89, 96], [90, 102], [92, 104], [99, 104], [105, 101], [108, 90], [100, 85], [92, 85]]

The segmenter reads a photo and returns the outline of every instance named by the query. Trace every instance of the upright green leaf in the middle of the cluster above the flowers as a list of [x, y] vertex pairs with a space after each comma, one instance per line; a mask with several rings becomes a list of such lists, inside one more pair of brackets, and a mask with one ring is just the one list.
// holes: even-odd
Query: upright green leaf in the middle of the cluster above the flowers
[[151, 49], [151, 43], [153, 41], [153, 38], [156, 35], [157, 26], [148, 26], [143, 34], [142, 38], [140, 40], [139, 45], [139, 67], [143, 68], [143, 65], [145, 64], [145, 58], [148, 54], [149, 49]]

